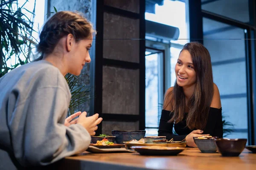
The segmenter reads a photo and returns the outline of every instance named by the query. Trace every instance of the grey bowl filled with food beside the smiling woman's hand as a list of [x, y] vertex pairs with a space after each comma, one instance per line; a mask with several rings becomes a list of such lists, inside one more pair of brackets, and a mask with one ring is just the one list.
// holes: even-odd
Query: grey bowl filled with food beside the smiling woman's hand
[[[212, 136], [212, 138], [216, 139], [218, 137]], [[217, 151], [214, 139], [198, 139], [197, 137], [193, 137], [193, 139], [202, 153], [215, 153]]]

